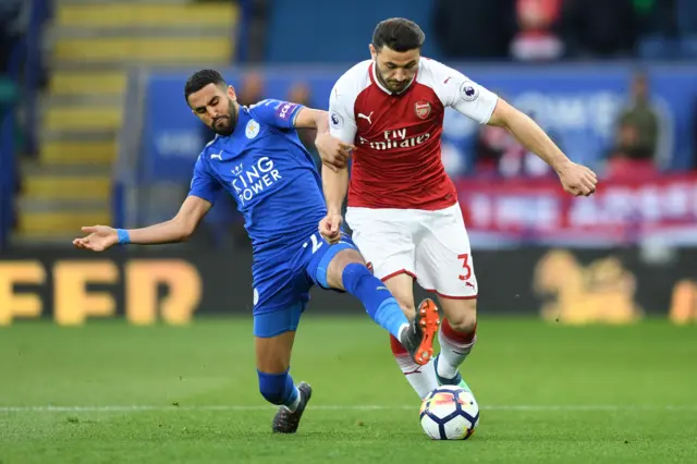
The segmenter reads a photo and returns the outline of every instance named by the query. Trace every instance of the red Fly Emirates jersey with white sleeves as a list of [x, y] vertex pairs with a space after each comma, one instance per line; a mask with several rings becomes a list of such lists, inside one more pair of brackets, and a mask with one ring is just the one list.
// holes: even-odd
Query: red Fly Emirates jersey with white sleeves
[[356, 64], [332, 89], [330, 131], [353, 143], [348, 206], [436, 210], [457, 202], [441, 160], [445, 107], [486, 123], [497, 96], [435, 60], [421, 58], [412, 84], [384, 88], [375, 63]]

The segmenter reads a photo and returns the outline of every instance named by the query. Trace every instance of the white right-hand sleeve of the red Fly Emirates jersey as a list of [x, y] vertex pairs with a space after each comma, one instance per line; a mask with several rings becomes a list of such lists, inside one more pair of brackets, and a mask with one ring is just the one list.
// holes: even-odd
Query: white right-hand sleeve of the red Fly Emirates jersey
[[442, 63], [435, 62], [432, 72], [435, 90], [443, 106], [480, 124], [489, 122], [499, 100], [494, 93]]

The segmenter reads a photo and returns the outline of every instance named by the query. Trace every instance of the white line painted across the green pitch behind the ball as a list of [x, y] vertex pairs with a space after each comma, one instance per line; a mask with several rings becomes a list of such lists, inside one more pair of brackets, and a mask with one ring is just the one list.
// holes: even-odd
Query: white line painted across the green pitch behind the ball
[[[172, 411], [269, 411], [278, 406], [244, 406], [244, 405], [94, 405], [94, 406], [0, 406], [0, 413], [130, 413], [130, 412], [172, 412]], [[311, 405], [315, 411], [418, 411], [418, 403], [414, 405]], [[612, 405], [612, 404], [510, 404], [481, 405], [482, 411], [530, 411], [530, 412], [602, 412], [602, 411], [694, 411], [697, 405]]]

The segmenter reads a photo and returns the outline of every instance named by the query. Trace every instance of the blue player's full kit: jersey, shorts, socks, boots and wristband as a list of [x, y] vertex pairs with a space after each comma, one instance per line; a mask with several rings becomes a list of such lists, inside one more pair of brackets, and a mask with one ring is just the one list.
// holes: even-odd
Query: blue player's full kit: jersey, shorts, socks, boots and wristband
[[[239, 107], [232, 134], [216, 136], [194, 166], [189, 196], [215, 204], [224, 191], [244, 216], [254, 253], [253, 314], [257, 338], [296, 330], [309, 290], [315, 285], [330, 289], [330, 262], [344, 249], [357, 249], [343, 232], [339, 243], [332, 245], [318, 231], [327, 206], [315, 161], [295, 130], [295, 119], [302, 110], [299, 105], [280, 100]], [[117, 234], [119, 243], [131, 243], [129, 231], [118, 229]], [[415, 362], [426, 364], [438, 331], [436, 305], [419, 305], [409, 322], [384, 283], [360, 260], [346, 259], [340, 272], [342, 288], [363, 303], [370, 318], [399, 340]], [[267, 344], [266, 350], [285, 356], [279, 351], [290, 347]], [[293, 434], [311, 388], [304, 382], [295, 386], [290, 366], [281, 373], [264, 369], [257, 366], [261, 395], [282, 405], [272, 429]]]

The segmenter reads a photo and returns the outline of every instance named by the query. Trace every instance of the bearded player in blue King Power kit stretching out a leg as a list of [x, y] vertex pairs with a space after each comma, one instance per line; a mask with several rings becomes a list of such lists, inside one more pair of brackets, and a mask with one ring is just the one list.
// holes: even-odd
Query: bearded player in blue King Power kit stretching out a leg
[[[327, 216], [322, 180], [296, 129], [317, 129], [321, 150], [351, 149], [329, 135], [328, 114], [279, 100], [242, 107], [233, 87], [212, 70], [192, 75], [184, 95], [193, 112], [217, 136], [199, 155], [191, 192], [178, 215], [144, 229], [86, 227], [83, 231], [88, 235], [73, 244], [101, 252], [117, 244], [183, 242], [221, 190], [232, 195], [244, 215], [254, 251], [256, 365], [261, 394], [280, 405], [273, 431], [295, 432], [311, 395], [309, 384], [295, 386], [289, 369], [295, 330], [314, 285], [356, 296], [416, 363], [428, 363], [439, 322], [435, 303], [425, 300], [409, 322], [390, 291], [368, 270], [348, 235], [342, 234], [339, 243], [330, 245], [318, 230], [338, 225]], [[322, 168], [322, 175], [339, 174]]]

